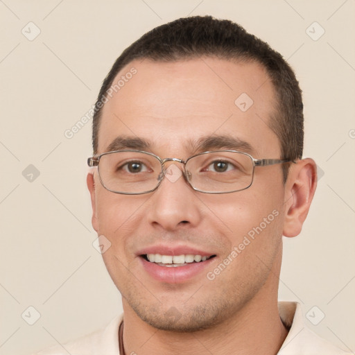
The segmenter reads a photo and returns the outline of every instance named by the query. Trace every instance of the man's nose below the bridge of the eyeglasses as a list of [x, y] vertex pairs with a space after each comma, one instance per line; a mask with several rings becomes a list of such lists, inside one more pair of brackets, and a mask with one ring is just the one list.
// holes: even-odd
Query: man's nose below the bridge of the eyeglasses
[[148, 208], [148, 221], [166, 231], [196, 227], [201, 220], [201, 202], [184, 179], [182, 166], [166, 164], [165, 175], [153, 192]]

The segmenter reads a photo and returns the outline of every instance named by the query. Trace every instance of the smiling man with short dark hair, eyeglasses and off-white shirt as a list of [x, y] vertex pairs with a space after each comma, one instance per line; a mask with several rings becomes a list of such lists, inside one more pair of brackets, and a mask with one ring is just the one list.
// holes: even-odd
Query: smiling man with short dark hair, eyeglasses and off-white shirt
[[92, 225], [123, 315], [40, 354], [345, 354], [277, 303], [282, 236], [316, 186], [279, 53], [226, 20], [159, 26], [105, 78], [93, 146]]

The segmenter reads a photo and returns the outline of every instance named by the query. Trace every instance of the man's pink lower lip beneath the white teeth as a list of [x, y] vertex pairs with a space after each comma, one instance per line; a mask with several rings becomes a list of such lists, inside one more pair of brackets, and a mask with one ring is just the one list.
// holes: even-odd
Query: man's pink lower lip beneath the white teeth
[[184, 266], [160, 266], [157, 263], [150, 263], [143, 257], [140, 257], [144, 270], [148, 274], [160, 282], [167, 282], [169, 284], [179, 284], [181, 282], [187, 282], [196, 275], [199, 275], [203, 270], [211, 264], [216, 257], [208, 259], [206, 261], [200, 261], [199, 263], [188, 263]]

